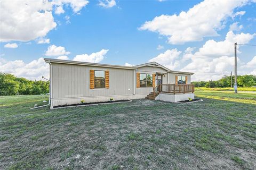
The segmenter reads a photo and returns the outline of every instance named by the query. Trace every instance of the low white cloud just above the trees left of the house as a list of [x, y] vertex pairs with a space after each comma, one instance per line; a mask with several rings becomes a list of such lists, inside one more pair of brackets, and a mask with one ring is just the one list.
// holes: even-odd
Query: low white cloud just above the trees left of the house
[[11, 73], [17, 77], [23, 77], [29, 80], [41, 80], [42, 75], [49, 78], [49, 64], [45, 63], [42, 57], [28, 64], [22, 60], [2, 60], [0, 62], [0, 72]]

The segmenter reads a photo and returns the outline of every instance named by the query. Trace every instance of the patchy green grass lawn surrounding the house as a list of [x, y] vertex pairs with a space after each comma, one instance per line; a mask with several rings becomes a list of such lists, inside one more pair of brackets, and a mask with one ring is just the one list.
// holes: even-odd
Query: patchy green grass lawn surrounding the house
[[256, 94], [49, 109], [0, 97], [0, 169], [255, 169]]

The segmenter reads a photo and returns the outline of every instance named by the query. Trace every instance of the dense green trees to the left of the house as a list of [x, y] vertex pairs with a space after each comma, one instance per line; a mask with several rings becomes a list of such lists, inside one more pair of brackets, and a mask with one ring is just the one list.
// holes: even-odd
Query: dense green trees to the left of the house
[[49, 81], [31, 81], [10, 73], [0, 73], [0, 96], [47, 94], [49, 86]]

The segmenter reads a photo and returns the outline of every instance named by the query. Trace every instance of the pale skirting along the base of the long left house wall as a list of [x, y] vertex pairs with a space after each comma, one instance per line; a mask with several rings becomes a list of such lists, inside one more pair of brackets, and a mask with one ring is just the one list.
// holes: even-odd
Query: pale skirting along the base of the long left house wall
[[111, 96], [86, 96], [86, 97], [70, 97], [70, 98], [53, 98], [51, 99], [51, 108], [59, 105], [71, 105], [81, 103], [81, 100], [84, 100], [84, 103], [92, 103], [98, 101], [108, 101], [110, 98], [114, 100], [125, 100], [125, 99], [142, 99], [147, 95], [145, 94], [136, 94], [136, 95], [111, 95]]

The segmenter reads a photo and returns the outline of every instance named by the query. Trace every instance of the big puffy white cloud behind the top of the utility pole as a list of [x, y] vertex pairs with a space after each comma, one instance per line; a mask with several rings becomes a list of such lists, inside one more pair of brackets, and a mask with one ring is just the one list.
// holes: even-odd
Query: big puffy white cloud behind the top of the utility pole
[[[234, 70], [234, 42], [247, 44], [254, 36], [255, 34], [234, 34], [229, 31], [223, 41], [208, 40], [196, 53], [189, 54], [187, 59], [190, 60], [190, 63], [181, 71], [194, 72], [194, 80], [220, 79]], [[242, 69], [243, 63], [239, 61], [238, 58], [238, 73], [249, 73], [250, 70]]]

